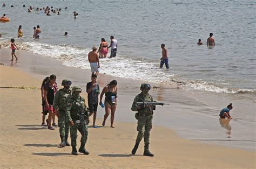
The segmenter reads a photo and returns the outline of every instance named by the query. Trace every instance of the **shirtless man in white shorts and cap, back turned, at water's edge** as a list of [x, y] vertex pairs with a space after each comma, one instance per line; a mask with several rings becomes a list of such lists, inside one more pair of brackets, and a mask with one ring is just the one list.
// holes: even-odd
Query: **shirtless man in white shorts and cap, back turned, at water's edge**
[[92, 46], [92, 51], [88, 53], [88, 60], [91, 66], [92, 75], [95, 74], [98, 76], [99, 74], [99, 56], [97, 51], [97, 46]]

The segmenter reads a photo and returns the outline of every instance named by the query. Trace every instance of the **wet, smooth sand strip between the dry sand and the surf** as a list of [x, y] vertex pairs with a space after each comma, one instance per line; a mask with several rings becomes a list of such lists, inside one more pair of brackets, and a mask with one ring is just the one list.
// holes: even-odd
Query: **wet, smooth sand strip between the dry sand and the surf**
[[[55, 74], [57, 76], [57, 83], [60, 84], [62, 79], [69, 78], [72, 80], [73, 85], [76, 84], [78, 86], [82, 86], [83, 92], [85, 91], [86, 82], [90, 81], [91, 73], [89, 70], [66, 67], [62, 65], [61, 61], [53, 58], [43, 57], [24, 51], [18, 52], [20, 56], [18, 62], [15, 63], [14, 61], [12, 64], [9, 64], [9, 50], [2, 49], [0, 50], [0, 54], [2, 54], [3, 57], [0, 61], [5, 62], [6, 65], [14, 66], [25, 71], [37, 79], [44, 79], [46, 75]], [[140, 83], [145, 81], [117, 78], [100, 73], [97, 80], [100, 90], [102, 90], [102, 87], [113, 79], [118, 81], [118, 100], [122, 101], [118, 103], [116, 119], [123, 122], [136, 122], [134, 119], [134, 112], [130, 111], [131, 103], [134, 96], [140, 92]], [[151, 86], [153, 85], [160, 87], [173, 87], [162, 83], [151, 83]], [[186, 89], [171, 89], [168, 90], [168, 92], [169, 91], [170, 93], [166, 93], [165, 89], [152, 89], [150, 91], [154, 100], [171, 103], [170, 106], [157, 107], [154, 114], [154, 125], [165, 126], [176, 131], [178, 135], [183, 138], [197, 140], [198, 142], [231, 146], [249, 151], [255, 150], [253, 147], [255, 144], [255, 138], [247, 138], [249, 142], [243, 141], [245, 137], [248, 137], [246, 136], [248, 133], [243, 134], [239, 132], [237, 135], [232, 134], [241, 130], [239, 128], [241, 128], [242, 125], [250, 124], [255, 126], [253, 119], [252, 122], [249, 123], [241, 123], [240, 119], [234, 119], [230, 123], [232, 126], [232, 133], [227, 134], [227, 131], [230, 129], [226, 129], [222, 124], [218, 124], [220, 122], [217, 115], [219, 113], [218, 105], [222, 104], [221, 106], [223, 106], [223, 103], [226, 104], [231, 102], [235, 105], [239, 105], [239, 107], [235, 108], [238, 113], [239, 111], [247, 109], [248, 112], [253, 114], [253, 101], [248, 104], [246, 100], [241, 101], [241, 96], [235, 96], [232, 98], [231, 95], [228, 94], [212, 94], [202, 91], [189, 91]], [[122, 110], [122, 112], [120, 112], [120, 110]], [[98, 117], [103, 117], [104, 109], [99, 107], [98, 111]], [[205, 112], [207, 113], [205, 114]], [[235, 114], [234, 112], [233, 115], [239, 116], [238, 113]], [[96, 125], [98, 124], [101, 124], [101, 122], [96, 123]], [[211, 133], [209, 131], [214, 132]], [[251, 135], [251, 137], [253, 137], [253, 135], [255, 136], [254, 131], [250, 132], [251, 133], [249, 135]]]

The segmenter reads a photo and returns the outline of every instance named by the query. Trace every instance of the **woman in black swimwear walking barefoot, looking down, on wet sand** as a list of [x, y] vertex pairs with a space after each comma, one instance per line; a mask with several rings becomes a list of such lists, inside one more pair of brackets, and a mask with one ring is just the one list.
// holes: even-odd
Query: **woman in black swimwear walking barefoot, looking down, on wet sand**
[[117, 108], [117, 81], [111, 81], [107, 86], [105, 86], [102, 90], [102, 94], [100, 94], [100, 101], [99, 104], [102, 104], [102, 97], [105, 94], [105, 115], [102, 125], [105, 126], [105, 122], [109, 114], [111, 113], [110, 121], [111, 121], [111, 128], [114, 128], [114, 112]]

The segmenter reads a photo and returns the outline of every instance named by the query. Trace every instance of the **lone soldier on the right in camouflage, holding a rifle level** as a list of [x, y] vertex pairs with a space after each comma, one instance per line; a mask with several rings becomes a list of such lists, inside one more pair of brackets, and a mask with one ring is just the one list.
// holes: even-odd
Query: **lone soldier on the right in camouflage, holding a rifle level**
[[156, 109], [156, 105], [136, 105], [135, 102], [143, 102], [143, 101], [153, 101], [152, 96], [149, 94], [150, 85], [147, 83], [142, 83], [140, 86], [140, 90], [142, 93], [138, 94], [132, 103], [132, 111], [138, 111], [136, 114], [136, 118], [138, 119], [137, 131], [138, 136], [136, 139], [136, 143], [134, 148], [132, 149], [132, 154], [134, 155], [139, 147], [139, 143], [144, 137], [144, 156], [153, 157], [149, 151], [149, 138], [150, 138], [150, 130], [152, 129], [152, 118], [153, 118], [153, 110]]

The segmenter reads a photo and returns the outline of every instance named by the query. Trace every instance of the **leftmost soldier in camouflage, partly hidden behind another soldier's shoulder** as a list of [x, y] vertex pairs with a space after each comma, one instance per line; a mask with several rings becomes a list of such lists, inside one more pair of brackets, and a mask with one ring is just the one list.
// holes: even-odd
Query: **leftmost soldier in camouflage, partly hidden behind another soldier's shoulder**
[[62, 89], [59, 89], [53, 100], [53, 108], [57, 111], [58, 126], [59, 126], [59, 136], [61, 142], [60, 147], [70, 146], [68, 142], [69, 137], [69, 123], [66, 122], [66, 103], [71, 97], [70, 85], [72, 82], [69, 79], [64, 79], [62, 81]]

